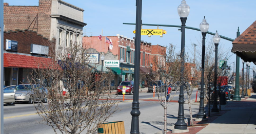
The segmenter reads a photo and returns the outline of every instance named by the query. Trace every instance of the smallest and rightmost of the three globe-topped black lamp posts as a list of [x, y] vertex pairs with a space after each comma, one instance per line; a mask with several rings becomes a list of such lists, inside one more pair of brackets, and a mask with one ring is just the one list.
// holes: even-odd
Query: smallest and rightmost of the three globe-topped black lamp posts
[[215, 64], [214, 64], [214, 100], [213, 100], [213, 106], [211, 108], [211, 112], [219, 112], [219, 108], [217, 106], [217, 73], [218, 73], [218, 67], [217, 67], [217, 60], [218, 60], [218, 46], [219, 42], [221, 40], [221, 36], [216, 31], [215, 35], [213, 36], [213, 42], [215, 44]]

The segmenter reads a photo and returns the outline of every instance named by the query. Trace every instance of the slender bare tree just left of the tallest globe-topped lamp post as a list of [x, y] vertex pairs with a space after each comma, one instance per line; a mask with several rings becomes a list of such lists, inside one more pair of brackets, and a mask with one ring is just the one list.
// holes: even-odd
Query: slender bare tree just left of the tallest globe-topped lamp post
[[[170, 44], [167, 48], [160, 50], [159, 55], [154, 55], [151, 66], [151, 74], [153, 70], [156, 71], [152, 77], [150, 77], [151, 83], [156, 83], [155, 80], [161, 80], [164, 85], [158, 87], [157, 97], [159, 103], [164, 108], [164, 133], [167, 132], [167, 107], [169, 101], [171, 101], [178, 91], [180, 86], [180, 67], [181, 58], [178, 53], [175, 53], [175, 46]], [[174, 93], [172, 93], [172, 90]]]

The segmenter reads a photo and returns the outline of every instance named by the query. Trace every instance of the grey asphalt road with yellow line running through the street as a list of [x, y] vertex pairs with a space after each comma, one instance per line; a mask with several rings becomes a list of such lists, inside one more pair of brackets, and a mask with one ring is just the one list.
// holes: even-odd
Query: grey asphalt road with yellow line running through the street
[[[192, 99], [195, 99], [196, 90], [193, 92]], [[185, 94], [186, 95], [186, 94]], [[114, 95], [113, 95], [114, 96]], [[199, 97], [198, 97], [199, 98]], [[130, 133], [132, 99], [133, 95], [117, 96], [120, 111], [114, 114], [108, 122], [124, 121], [126, 133]], [[164, 108], [157, 101], [157, 96], [153, 98], [153, 93], [140, 93], [140, 132], [156, 133], [164, 128]], [[179, 92], [173, 100], [179, 100]], [[167, 107], [167, 123], [170, 126], [177, 121], [178, 102], [170, 102]], [[192, 114], [197, 114], [199, 105], [192, 105]], [[4, 133], [54, 133], [50, 126], [40, 123], [41, 117], [36, 113], [33, 104], [15, 103], [4, 106]], [[188, 104], [184, 104], [184, 116], [189, 116]], [[59, 132], [58, 132], [59, 133]]]

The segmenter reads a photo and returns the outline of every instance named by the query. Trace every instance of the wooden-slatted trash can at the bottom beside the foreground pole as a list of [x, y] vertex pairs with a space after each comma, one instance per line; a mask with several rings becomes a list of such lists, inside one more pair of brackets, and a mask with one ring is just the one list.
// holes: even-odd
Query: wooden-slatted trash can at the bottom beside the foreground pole
[[124, 121], [106, 122], [99, 125], [98, 133], [125, 133]]

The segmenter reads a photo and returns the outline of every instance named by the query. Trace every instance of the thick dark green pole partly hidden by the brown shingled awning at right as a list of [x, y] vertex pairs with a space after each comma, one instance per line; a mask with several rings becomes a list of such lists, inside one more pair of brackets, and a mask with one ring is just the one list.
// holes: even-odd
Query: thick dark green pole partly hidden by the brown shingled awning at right
[[[238, 32], [237, 32], [237, 37], [240, 36], [240, 32], [239, 32], [239, 27], [238, 27]], [[237, 55], [237, 60], [235, 63], [235, 89], [234, 89], [234, 97], [233, 100], [234, 101], [241, 101], [240, 98], [240, 88], [239, 88], [239, 66], [240, 66], [240, 58]]]

